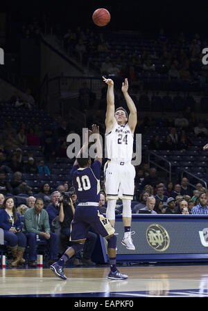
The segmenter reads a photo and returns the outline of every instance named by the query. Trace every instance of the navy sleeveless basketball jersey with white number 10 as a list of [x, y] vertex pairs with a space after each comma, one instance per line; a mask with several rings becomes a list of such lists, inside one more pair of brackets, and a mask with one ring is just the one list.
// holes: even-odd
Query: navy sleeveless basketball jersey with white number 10
[[99, 202], [101, 190], [101, 163], [99, 161], [94, 161], [89, 168], [73, 166], [71, 176], [78, 202]]

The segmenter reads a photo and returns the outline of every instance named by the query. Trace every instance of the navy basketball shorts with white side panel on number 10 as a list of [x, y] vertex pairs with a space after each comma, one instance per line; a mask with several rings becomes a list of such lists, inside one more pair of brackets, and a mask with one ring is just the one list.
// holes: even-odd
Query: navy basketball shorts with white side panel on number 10
[[94, 232], [103, 236], [103, 238], [111, 236], [115, 232], [115, 229], [110, 221], [98, 211], [98, 206], [88, 205], [89, 202], [83, 204], [78, 204], [75, 208], [71, 222], [70, 241], [76, 242], [86, 239], [89, 227]]

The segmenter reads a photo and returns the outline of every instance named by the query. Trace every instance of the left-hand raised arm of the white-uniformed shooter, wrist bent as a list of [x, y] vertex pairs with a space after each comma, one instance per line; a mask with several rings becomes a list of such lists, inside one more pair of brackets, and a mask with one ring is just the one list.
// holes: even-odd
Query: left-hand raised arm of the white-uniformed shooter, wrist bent
[[115, 119], [115, 105], [114, 105], [114, 82], [112, 79], [106, 79], [102, 77], [103, 81], [107, 84], [107, 109], [105, 115], [106, 133], [112, 130], [112, 127], [116, 123]]

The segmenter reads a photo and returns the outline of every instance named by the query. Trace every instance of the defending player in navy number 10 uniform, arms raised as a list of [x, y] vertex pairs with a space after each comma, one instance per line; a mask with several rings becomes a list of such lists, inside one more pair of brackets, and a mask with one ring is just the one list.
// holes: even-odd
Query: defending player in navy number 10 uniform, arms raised
[[[71, 169], [73, 176], [73, 186], [76, 189], [78, 197], [78, 205], [76, 206], [71, 222], [70, 240], [73, 245], [69, 247], [63, 256], [50, 269], [56, 276], [66, 280], [64, 275], [64, 264], [78, 251], [83, 249], [89, 227], [107, 240], [107, 254], [110, 260], [110, 273], [108, 278], [114, 280], [123, 280], [128, 278], [127, 275], [121, 274], [116, 269], [116, 236], [114, 228], [110, 221], [100, 212], [100, 172], [102, 163], [102, 147], [99, 138], [99, 129], [96, 125], [92, 125], [92, 131], [88, 131], [89, 136], [94, 134], [96, 139], [96, 157], [92, 163], [88, 156], [89, 139], [85, 139], [83, 148], [76, 157], [76, 161]], [[87, 153], [86, 153], [87, 151]]]

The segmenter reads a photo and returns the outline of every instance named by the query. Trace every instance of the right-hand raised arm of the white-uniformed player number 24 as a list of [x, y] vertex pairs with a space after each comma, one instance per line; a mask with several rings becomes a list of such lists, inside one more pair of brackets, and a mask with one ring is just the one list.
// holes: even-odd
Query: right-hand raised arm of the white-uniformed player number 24
[[122, 83], [121, 91], [123, 92], [123, 96], [125, 101], [128, 105], [128, 109], [130, 111], [130, 115], [128, 118], [128, 125], [132, 133], [135, 132], [135, 127], [137, 125], [137, 108], [135, 103], [133, 102], [132, 98], [128, 94], [128, 79], [125, 78], [124, 82]]

